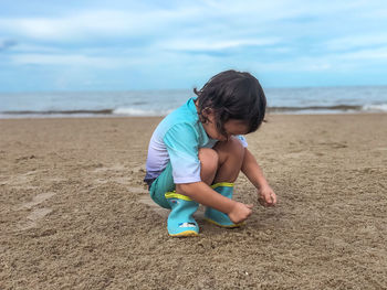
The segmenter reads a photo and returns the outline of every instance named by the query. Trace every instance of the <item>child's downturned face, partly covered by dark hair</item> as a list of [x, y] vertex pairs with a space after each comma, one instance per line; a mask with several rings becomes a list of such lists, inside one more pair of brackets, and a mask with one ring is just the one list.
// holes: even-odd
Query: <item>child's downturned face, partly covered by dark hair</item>
[[226, 141], [231, 136], [247, 135], [249, 131], [248, 125], [245, 122], [243, 122], [241, 120], [231, 119], [231, 120], [228, 120], [223, 126], [223, 129], [226, 132], [226, 136], [224, 136], [221, 132], [219, 132], [217, 125], [216, 125], [216, 121], [215, 121], [213, 114], [211, 112], [207, 117], [208, 117], [209, 121], [203, 123], [202, 126], [203, 126], [207, 135], [212, 139], [216, 139], [219, 141]]

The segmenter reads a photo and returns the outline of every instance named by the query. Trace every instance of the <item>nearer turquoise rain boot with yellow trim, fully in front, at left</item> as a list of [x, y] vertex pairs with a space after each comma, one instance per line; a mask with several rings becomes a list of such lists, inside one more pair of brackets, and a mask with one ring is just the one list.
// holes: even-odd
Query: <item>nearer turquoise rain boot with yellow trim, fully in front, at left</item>
[[167, 192], [165, 194], [171, 211], [168, 216], [168, 234], [172, 237], [190, 237], [199, 235], [199, 226], [192, 215], [199, 204], [186, 195]]

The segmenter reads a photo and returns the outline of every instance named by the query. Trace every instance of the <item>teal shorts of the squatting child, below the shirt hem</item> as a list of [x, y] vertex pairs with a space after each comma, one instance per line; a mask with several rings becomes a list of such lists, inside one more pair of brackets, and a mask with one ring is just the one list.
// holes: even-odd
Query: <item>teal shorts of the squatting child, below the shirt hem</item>
[[170, 162], [161, 174], [151, 183], [149, 193], [151, 200], [164, 208], [170, 208], [165, 194], [175, 191], [176, 185], [172, 178], [172, 165]]

